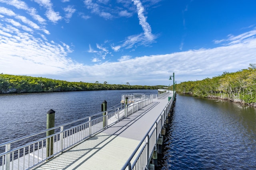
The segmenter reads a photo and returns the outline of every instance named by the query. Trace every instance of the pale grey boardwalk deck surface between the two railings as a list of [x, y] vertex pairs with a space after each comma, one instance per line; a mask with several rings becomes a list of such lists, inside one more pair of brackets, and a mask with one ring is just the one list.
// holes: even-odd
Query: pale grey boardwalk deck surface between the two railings
[[34, 168], [36, 170], [120, 170], [168, 104], [168, 93], [97, 135]]

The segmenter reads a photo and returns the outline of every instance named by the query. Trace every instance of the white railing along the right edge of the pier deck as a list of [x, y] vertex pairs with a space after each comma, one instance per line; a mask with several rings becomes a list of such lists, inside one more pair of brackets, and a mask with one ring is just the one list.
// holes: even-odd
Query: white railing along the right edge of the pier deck
[[[134, 150], [130, 158], [126, 161], [126, 163], [122, 167], [122, 170], [148, 169], [150, 159], [152, 157], [154, 150], [156, 151], [157, 141], [160, 137], [162, 127], [166, 121], [166, 117], [168, 116], [168, 112], [170, 111], [172, 104], [173, 97], [168, 101], [168, 104], [164, 107], [159, 117], [150, 127], [144, 138], [140, 141], [139, 145]], [[135, 155], [137, 156], [135, 157]]]

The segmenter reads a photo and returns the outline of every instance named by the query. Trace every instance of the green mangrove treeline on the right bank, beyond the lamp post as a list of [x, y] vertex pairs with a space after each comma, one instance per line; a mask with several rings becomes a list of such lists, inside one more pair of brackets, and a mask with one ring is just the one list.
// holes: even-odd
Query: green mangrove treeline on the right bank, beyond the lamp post
[[176, 91], [206, 98], [220, 98], [256, 107], [256, 64], [237, 72], [200, 81], [182, 82]]

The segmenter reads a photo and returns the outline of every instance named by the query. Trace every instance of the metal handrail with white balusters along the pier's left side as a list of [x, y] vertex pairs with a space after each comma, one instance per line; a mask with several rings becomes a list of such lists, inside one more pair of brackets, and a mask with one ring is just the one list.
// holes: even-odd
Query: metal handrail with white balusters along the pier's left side
[[[81, 118], [81, 119], [78, 119], [78, 120], [75, 120], [75, 121], [72, 121], [72, 122], [69, 122], [69, 123], [65, 123], [65, 124], [62, 124], [62, 125], [58, 125], [56, 127], [52, 127], [50, 129], [45, 129], [43, 131], [33, 133], [31, 135], [27, 135], [25, 137], [21, 137], [21, 138], [14, 139], [14, 140], [9, 141], [9, 142], [2, 143], [2, 144], [0, 144], [0, 147], [6, 146], [6, 151], [0, 153], [0, 157], [2, 157], [2, 169], [4, 169], [4, 166], [5, 166], [5, 169], [9, 169], [10, 168], [10, 162], [12, 162], [12, 168], [13, 168], [14, 160], [18, 159], [18, 162], [19, 162], [20, 159], [22, 159], [21, 158], [22, 156], [23, 156], [23, 160], [24, 160], [25, 156], [28, 155], [28, 154], [33, 154], [34, 155], [32, 157], [33, 158], [33, 164], [32, 164], [32, 166], [30, 166], [29, 161], [28, 161], [28, 164], [25, 164], [25, 162], [23, 162], [23, 164], [22, 164], [23, 169], [30, 169], [30, 168], [33, 168], [34, 166], [42, 164], [45, 160], [48, 160], [49, 158], [52, 158], [53, 156], [62, 152], [63, 150], [66, 150], [66, 149], [68, 149], [68, 148], [70, 148], [74, 145], [77, 145], [81, 141], [84, 141], [85, 139], [91, 137], [92, 135], [95, 135], [96, 133], [102, 131], [103, 129], [107, 128], [108, 126], [112, 125], [113, 123], [116, 123], [117, 121], [120, 121], [121, 119], [123, 119], [124, 117], [134, 113], [138, 109], [141, 109], [142, 107], [145, 107], [148, 104], [151, 104], [152, 100], [153, 100], [152, 98], [148, 98], [148, 99], [145, 98], [145, 99], [136, 101], [135, 103], [127, 104], [125, 106], [122, 106], [122, 104], [121, 104], [121, 107], [117, 107], [117, 108], [116, 108], [116, 106], [117, 106], [116, 105], [116, 106], [111, 107], [107, 111], [96, 113], [96, 114], [88, 116], [88, 117], [84, 117], [84, 118]], [[107, 114], [103, 115], [102, 113], [104, 113], [104, 112], [107, 112]], [[114, 115], [117, 115], [117, 118], [114, 117]], [[96, 117], [96, 118], [91, 119], [92, 117]], [[106, 127], [104, 127], [104, 125], [103, 125], [104, 117], [106, 117], [105, 119], [107, 120], [106, 121]], [[79, 125], [75, 125], [73, 127], [68, 127], [68, 129], [64, 130], [64, 126], [71, 125], [72, 123], [76, 123], [76, 122], [83, 121], [83, 120], [86, 120], [86, 119], [88, 119], [88, 121], [86, 121], [82, 124], [79, 124]], [[42, 133], [46, 133], [47, 131], [50, 131], [50, 130], [53, 130], [53, 129], [60, 129], [60, 131], [54, 133], [53, 135], [43, 137], [43, 138], [40, 138], [40, 139], [36, 139], [35, 141], [29, 142], [29, 143], [27, 143], [25, 145], [22, 145], [20, 147], [16, 147], [14, 149], [11, 149], [11, 144], [12, 143], [16, 143], [18, 141], [22, 141], [22, 140], [28, 139], [30, 137], [34, 137], [34, 136], [40, 135]], [[82, 131], [84, 131], [84, 133]], [[81, 133], [81, 137], [80, 137], [80, 133]], [[85, 133], [86, 133], [86, 135], [84, 135]], [[78, 137], [78, 135], [79, 135], [79, 137]], [[73, 137], [74, 137], [74, 141], [73, 141]], [[53, 145], [56, 145], [56, 150], [53, 151], [52, 155], [45, 157], [45, 156], [43, 156], [43, 153], [44, 153], [43, 149], [46, 146], [46, 139], [50, 139], [50, 138], [53, 138], [55, 140]], [[70, 142], [71, 140], [72, 140], [72, 142]], [[68, 142], [69, 142], [69, 144], [68, 144]], [[60, 145], [60, 146], [58, 146], [58, 145]], [[33, 151], [30, 152], [30, 148], [32, 148]], [[37, 157], [39, 157], [40, 156], [39, 155], [39, 150], [40, 149], [42, 149], [42, 158], [41, 158], [42, 160], [39, 160], [39, 158], [37, 158], [37, 161], [34, 161], [35, 152], [38, 152]], [[16, 154], [16, 156], [18, 154], [18, 157], [15, 158], [15, 159], [14, 159], [14, 154]], [[22, 154], [22, 156], [20, 156], [20, 154]], [[30, 156], [28, 156], [28, 159], [29, 158], [30, 158]], [[4, 162], [4, 160], [5, 160], [5, 162]], [[34, 162], [36, 162], [36, 163], [34, 163]], [[25, 166], [26, 166], [26, 168], [25, 168]]]

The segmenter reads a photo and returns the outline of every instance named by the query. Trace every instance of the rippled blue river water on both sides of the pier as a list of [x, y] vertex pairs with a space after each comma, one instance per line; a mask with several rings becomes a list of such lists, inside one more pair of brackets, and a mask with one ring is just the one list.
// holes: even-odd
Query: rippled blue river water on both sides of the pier
[[[104, 90], [0, 95], [0, 143], [46, 128], [46, 112], [60, 125], [120, 104], [122, 94], [157, 90]], [[256, 169], [256, 109], [223, 100], [177, 95], [158, 168]]]

